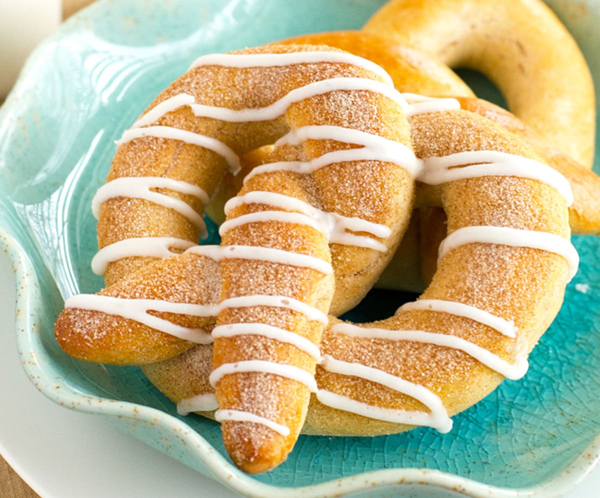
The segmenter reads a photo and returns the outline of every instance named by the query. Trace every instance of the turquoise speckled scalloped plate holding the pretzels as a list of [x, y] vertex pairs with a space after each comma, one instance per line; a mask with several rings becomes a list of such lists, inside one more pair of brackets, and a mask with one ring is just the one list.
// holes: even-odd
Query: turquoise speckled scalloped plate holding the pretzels
[[[139, 369], [79, 362], [53, 339], [65, 297], [102, 286], [89, 268], [96, 247], [90, 201], [106, 178], [113, 141], [155, 94], [203, 53], [359, 28], [383, 2], [106, 0], [36, 50], [0, 109], [0, 246], [14, 266], [26, 374], [57, 403], [101, 415], [247, 496], [432, 497], [448, 490], [473, 497], [559, 496], [599, 459], [595, 237], [575, 237], [579, 273], [530, 357], [529, 373], [456, 416], [451, 433], [419, 428], [388, 437], [301, 437], [286, 463], [261, 476], [233, 467], [218, 425], [179, 417]], [[556, 0], [553, 7], [578, 38], [598, 85], [600, 2]], [[376, 302], [387, 300], [394, 309], [397, 299], [377, 296]], [[385, 312], [383, 305], [375, 308]]]

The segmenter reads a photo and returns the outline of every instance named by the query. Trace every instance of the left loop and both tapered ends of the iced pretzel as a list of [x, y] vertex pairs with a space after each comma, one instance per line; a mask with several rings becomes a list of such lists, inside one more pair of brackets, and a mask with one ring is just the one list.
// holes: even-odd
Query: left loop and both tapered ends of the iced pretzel
[[[115, 283], [65, 303], [55, 327], [61, 347], [95, 361], [152, 362], [206, 342], [196, 321], [218, 314], [227, 333], [213, 334], [212, 375], [220, 374], [213, 383], [227, 451], [248, 472], [277, 465], [304, 422], [326, 312], [361, 299], [408, 224], [418, 162], [406, 108], [379, 66], [325, 46], [200, 58], [124, 134], [95, 201], [95, 263]], [[240, 154], [273, 142], [269, 163], [229, 203], [223, 247], [209, 249], [223, 275], [218, 306], [194, 306], [202, 293], [178, 285], [175, 270], [168, 290], [151, 288], [140, 276], [148, 260], [193, 245], [199, 201], [227, 163], [237, 169]], [[133, 289], [123, 278], [130, 273]], [[157, 326], [174, 314], [199, 318]], [[257, 437], [256, 420], [274, 418], [286, 431]]]

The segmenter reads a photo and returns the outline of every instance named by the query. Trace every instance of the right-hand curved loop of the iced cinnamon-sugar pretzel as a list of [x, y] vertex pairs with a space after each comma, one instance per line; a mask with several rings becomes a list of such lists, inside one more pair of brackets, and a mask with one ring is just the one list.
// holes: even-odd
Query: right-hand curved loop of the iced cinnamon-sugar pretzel
[[[424, 158], [419, 178], [446, 180], [425, 187], [424, 196], [448, 215], [439, 266], [419, 300], [394, 317], [361, 326], [329, 317], [307, 434], [372, 436], [415, 425], [448, 431], [452, 414], [503, 378], [525, 373], [527, 354], [577, 267], [568, 241], [568, 184], [536, 162], [526, 144], [463, 110], [417, 115], [410, 123]], [[477, 152], [487, 148], [493, 150]], [[189, 257], [175, 259], [184, 264]], [[210, 348], [143, 367], [181, 413], [214, 416]], [[256, 425], [257, 434], [272, 430]]]

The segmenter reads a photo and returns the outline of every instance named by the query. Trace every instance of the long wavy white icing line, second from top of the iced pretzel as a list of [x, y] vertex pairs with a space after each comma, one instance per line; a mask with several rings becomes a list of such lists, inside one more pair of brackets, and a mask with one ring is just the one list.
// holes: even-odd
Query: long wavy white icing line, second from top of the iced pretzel
[[295, 102], [301, 102], [334, 91], [370, 91], [393, 100], [402, 109], [407, 108], [406, 100], [394, 87], [374, 79], [360, 77], [335, 77], [314, 81], [303, 87], [290, 90], [281, 99], [275, 100], [272, 104], [262, 108], [230, 109], [205, 104], [192, 104], [190, 107], [194, 115], [198, 117], [212, 118], [229, 123], [271, 121], [285, 114], [289, 106]]

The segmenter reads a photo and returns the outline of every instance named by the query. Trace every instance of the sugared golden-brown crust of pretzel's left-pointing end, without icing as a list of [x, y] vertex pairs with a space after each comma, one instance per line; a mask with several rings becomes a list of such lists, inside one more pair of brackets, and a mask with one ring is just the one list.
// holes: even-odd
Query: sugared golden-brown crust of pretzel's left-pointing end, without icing
[[[121, 299], [216, 304], [220, 299], [220, 282], [183, 276], [211, 275], [215, 271], [218, 271], [218, 265], [214, 261], [184, 254], [146, 264], [99, 294]], [[149, 314], [184, 327], [205, 329], [207, 334], [214, 324], [213, 317], [152, 311]], [[154, 363], [183, 353], [194, 345], [136, 320], [80, 308], [65, 308], [59, 314], [55, 336], [62, 350], [71, 356], [118, 365]]]

